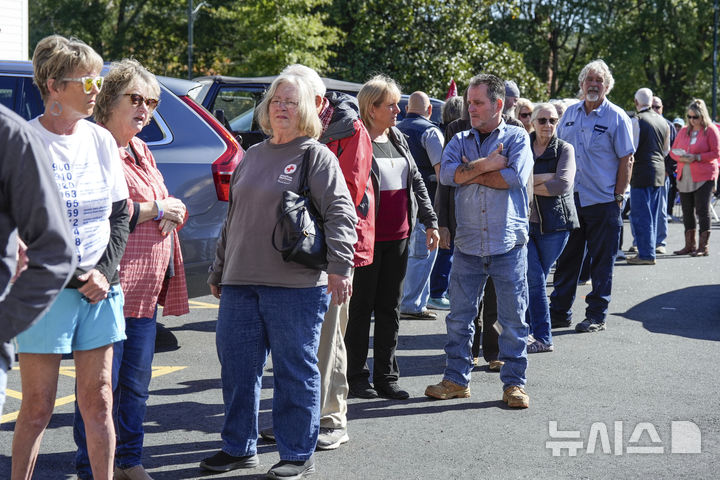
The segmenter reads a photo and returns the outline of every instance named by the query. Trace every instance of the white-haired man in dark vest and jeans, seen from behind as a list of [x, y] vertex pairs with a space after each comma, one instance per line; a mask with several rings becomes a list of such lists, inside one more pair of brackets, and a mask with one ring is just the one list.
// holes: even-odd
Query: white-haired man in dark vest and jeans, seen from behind
[[665, 156], [670, 151], [670, 128], [652, 109], [649, 88], [635, 92], [637, 115], [632, 119], [635, 160], [630, 179], [630, 222], [638, 254], [630, 265], [655, 265], [658, 223], [665, 195]]

